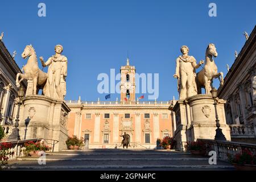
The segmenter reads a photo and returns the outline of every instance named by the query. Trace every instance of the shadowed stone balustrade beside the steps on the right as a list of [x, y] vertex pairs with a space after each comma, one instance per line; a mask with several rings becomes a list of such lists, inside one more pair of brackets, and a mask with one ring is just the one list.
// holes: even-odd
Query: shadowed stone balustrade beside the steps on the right
[[253, 154], [256, 154], [256, 144], [238, 143], [230, 141], [218, 141], [210, 139], [199, 139], [206, 143], [207, 154], [209, 151], [216, 151], [218, 160], [228, 161], [228, 154], [236, 155], [247, 148]]

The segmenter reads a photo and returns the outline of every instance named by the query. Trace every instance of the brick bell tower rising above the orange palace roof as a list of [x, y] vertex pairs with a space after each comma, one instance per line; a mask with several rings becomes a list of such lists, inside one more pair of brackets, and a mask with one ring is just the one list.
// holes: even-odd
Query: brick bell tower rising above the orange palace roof
[[120, 101], [135, 101], [135, 71], [135, 67], [130, 66], [129, 58], [127, 58], [126, 65], [120, 69]]

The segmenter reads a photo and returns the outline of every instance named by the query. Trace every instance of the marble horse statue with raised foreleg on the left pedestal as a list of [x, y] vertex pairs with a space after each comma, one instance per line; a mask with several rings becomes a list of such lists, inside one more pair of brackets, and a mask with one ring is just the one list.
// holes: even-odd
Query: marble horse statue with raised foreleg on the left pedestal
[[[43, 93], [44, 93], [44, 86], [46, 85], [46, 81], [47, 81], [47, 73], [39, 69], [38, 60], [36, 58], [36, 52], [31, 44], [30, 46], [26, 46], [24, 48], [22, 57], [23, 59], [27, 59], [28, 57], [28, 60], [27, 60], [27, 64], [24, 65], [23, 67], [24, 74], [18, 73], [16, 76], [16, 86], [19, 88], [20, 81], [22, 81], [23, 79], [32, 80], [33, 81], [32, 94], [38, 94], [39, 89], [43, 89]], [[20, 80], [19, 80], [19, 77], [21, 77]]]

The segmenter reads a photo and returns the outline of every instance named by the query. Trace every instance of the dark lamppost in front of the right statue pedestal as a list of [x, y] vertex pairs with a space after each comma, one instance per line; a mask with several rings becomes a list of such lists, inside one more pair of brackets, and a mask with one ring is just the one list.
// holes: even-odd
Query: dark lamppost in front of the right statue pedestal
[[212, 97], [213, 97], [213, 100], [214, 100], [214, 107], [215, 107], [215, 114], [216, 114], [216, 126], [217, 126], [217, 129], [215, 130], [216, 135], [215, 135], [214, 140], [226, 141], [226, 137], [222, 133], [222, 129], [220, 129], [220, 120], [218, 120], [217, 101], [216, 101], [217, 92], [218, 92], [218, 90], [216, 88], [212, 88], [212, 90], [210, 91], [210, 93], [212, 93]]

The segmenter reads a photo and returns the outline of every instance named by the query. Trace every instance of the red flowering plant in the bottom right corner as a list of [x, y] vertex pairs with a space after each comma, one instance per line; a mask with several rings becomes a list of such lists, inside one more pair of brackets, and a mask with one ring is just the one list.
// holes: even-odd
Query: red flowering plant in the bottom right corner
[[242, 150], [240, 154], [236, 154], [235, 156], [228, 154], [228, 160], [232, 164], [256, 165], [256, 154], [253, 155], [253, 153], [250, 150], [245, 148], [244, 150]]

